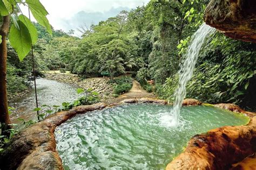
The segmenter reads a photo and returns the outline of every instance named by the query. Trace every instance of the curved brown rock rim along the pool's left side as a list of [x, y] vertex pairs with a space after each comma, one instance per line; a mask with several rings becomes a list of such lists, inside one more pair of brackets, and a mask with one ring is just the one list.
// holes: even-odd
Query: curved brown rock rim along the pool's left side
[[0, 169], [63, 169], [56, 151], [56, 126], [77, 114], [105, 107], [105, 103], [76, 107], [26, 128], [6, 144], [4, 152], [0, 154]]

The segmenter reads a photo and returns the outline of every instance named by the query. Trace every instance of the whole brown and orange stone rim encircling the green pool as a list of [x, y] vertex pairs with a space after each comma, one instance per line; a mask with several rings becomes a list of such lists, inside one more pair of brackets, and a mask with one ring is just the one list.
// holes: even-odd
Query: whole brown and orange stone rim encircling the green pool
[[[167, 101], [140, 98], [124, 100], [120, 103], [167, 104]], [[194, 99], [183, 101], [183, 105], [200, 104], [202, 103]], [[5, 150], [0, 154], [1, 169], [63, 169], [62, 160], [56, 150], [54, 136], [56, 127], [75, 115], [114, 105], [119, 104], [97, 103], [80, 106], [69, 111], [58, 112], [42, 122], [31, 125], [6, 144]], [[237, 163], [255, 152], [256, 145], [253, 147], [253, 144], [256, 143], [256, 116], [232, 104], [216, 104], [214, 106], [246, 114], [250, 116], [251, 121], [245, 126], [224, 126], [194, 136], [185, 152], [167, 165], [166, 169], [219, 169], [218, 167]], [[224, 163], [221, 162], [225, 162], [225, 166], [217, 167], [215, 165], [223, 165]]]

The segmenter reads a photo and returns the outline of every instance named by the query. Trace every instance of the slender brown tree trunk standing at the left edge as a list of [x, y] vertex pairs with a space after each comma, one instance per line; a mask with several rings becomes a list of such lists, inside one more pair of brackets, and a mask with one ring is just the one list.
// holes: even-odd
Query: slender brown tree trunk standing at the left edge
[[11, 121], [8, 113], [7, 102], [7, 81], [6, 81], [6, 60], [7, 60], [7, 45], [6, 37], [9, 32], [10, 16], [3, 17], [0, 35], [2, 43], [0, 45], [0, 122], [2, 124], [2, 134], [8, 135], [5, 130], [11, 129]]

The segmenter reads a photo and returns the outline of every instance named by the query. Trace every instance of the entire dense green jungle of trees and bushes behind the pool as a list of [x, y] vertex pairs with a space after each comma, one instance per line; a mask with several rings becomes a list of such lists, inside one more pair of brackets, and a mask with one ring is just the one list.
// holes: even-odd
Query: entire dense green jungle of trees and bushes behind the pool
[[[36, 70], [61, 69], [85, 76], [108, 73], [112, 80], [133, 72], [145, 89], [172, 101], [179, 63], [183, 62], [190, 37], [203, 23], [208, 2], [152, 0], [97, 25], [80, 27], [82, 37], [74, 36], [73, 30], [65, 33], [42, 22], [32, 23], [38, 34], [34, 44]], [[8, 93], [17, 93], [29, 87], [31, 57], [23, 56], [19, 62], [10, 42], [11, 39], [7, 41]], [[256, 44], [216, 33], [199, 56], [187, 85], [187, 97], [207, 103], [234, 103], [255, 111], [255, 60]], [[154, 81], [153, 86], [149, 80]]]

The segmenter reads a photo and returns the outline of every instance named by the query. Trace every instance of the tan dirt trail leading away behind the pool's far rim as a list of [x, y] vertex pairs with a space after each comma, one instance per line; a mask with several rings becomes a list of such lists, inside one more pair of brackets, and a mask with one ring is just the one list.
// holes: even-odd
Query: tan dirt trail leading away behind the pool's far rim
[[119, 103], [125, 99], [142, 97], [154, 97], [154, 95], [144, 90], [142, 86], [140, 86], [139, 82], [133, 80], [132, 89], [128, 93], [120, 95], [114, 102]]

